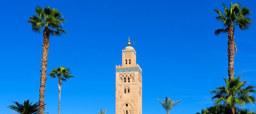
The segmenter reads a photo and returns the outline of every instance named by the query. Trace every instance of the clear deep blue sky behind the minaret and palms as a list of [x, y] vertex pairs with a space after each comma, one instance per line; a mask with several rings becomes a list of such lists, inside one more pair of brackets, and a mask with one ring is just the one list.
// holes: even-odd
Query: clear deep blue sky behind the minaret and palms
[[[11, 101], [37, 102], [43, 35], [27, 23], [36, 6], [57, 8], [69, 35], [50, 37], [47, 74], [66, 66], [75, 76], [63, 82], [61, 114], [115, 114], [115, 65], [127, 38], [135, 41], [143, 70], [143, 114], [165, 114], [157, 101], [182, 100], [170, 113], [195, 114], [211, 106], [209, 92], [227, 77], [227, 34], [213, 9], [254, 0], [3, 0], [0, 18], [0, 113], [12, 114]], [[256, 85], [256, 24], [235, 31], [235, 74]], [[58, 112], [58, 81], [47, 78], [45, 112]], [[255, 109], [255, 106], [249, 106]]]

